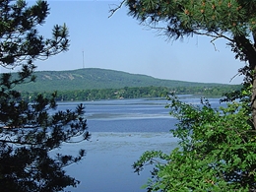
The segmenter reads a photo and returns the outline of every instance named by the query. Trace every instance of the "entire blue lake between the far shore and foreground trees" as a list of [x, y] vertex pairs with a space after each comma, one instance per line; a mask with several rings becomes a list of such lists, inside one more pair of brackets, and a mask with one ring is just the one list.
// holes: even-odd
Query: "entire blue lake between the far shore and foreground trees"
[[[183, 96], [182, 100], [200, 104], [200, 98]], [[219, 98], [210, 99], [213, 106]], [[58, 109], [74, 109], [79, 102], [60, 102]], [[150, 177], [150, 167], [140, 175], [132, 164], [149, 150], [169, 153], [177, 147], [177, 138], [169, 133], [176, 120], [166, 99], [118, 99], [83, 102], [86, 106], [90, 141], [65, 144], [65, 153], [76, 155], [86, 150], [84, 160], [66, 167], [69, 175], [80, 180], [76, 192], [145, 192], [141, 186]]]

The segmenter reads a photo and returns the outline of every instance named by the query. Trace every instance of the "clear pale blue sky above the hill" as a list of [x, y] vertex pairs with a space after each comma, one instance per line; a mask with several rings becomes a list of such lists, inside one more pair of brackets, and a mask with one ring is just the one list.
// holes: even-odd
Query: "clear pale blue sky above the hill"
[[[127, 8], [109, 16], [109, 7], [121, 1], [49, 0], [50, 15], [39, 28], [51, 36], [54, 25], [66, 24], [71, 40], [69, 51], [46, 61], [36, 61], [36, 71], [101, 68], [144, 74], [167, 80], [240, 84], [235, 60], [224, 39], [215, 46], [206, 36], [171, 40], [150, 31], [127, 15]], [[29, 4], [34, 1], [30, 0]], [[84, 59], [83, 59], [84, 58]], [[1, 71], [5, 70], [1, 68]]]

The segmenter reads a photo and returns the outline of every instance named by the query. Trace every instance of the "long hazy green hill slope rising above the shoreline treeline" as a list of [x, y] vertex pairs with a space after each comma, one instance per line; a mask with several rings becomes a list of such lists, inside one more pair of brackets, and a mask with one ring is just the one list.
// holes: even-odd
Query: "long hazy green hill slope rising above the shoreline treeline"
[[[206, 87], [218, 84], [160, 80], [146, 75], [120, 71], [86, 68], [71, 71], [35, 72], [35, 83], [17, 87], [21, 92], [77, 91], [92, 89], [119, 89], [124, 87]], [[171, 78], [171, 77], [170, 77]]]

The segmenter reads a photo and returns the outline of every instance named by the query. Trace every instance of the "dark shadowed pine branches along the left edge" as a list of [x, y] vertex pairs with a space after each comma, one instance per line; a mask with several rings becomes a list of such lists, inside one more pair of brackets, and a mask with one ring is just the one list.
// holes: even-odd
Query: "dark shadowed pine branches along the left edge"
[[[0, 189], [9, 191], [62, 191], [76, 186], [79, 181], [66, 175], [64, 166], [82, 160], [85, 151], [77, 157], [49, 152], [72, 138], [84, 141], [90, 137], [84, 106], [76, 110], [58, 111], [56, 94], [35, 96], [25, 100], [16, 86], [33, 82], [36, 59], [47, 59], [68, 49], [66, 26], [55, 26], [52, 38], [39, 35], [36, 27], [42, 25], [49, 8], [46, 1], [37, 1], [29, 7], [23, 0], [0, 2], [0, 65], [17, 74], [0, 77]], [[80, 137], [78, 137], [80, 136]], [[76, 142], [79, 142], [76, 141]]]

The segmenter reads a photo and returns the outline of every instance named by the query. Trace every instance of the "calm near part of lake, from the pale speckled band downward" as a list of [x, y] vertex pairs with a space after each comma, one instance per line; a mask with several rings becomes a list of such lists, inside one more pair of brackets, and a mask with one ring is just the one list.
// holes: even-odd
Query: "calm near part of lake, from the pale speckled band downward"
[[150, 177], [149, 168], [140, 175], [133, 172], [132, 164], [145, 151], [162, 150], [165, 153], [177, 147], [177, 139], [169, 133], [111, 133], [95, 132], [90, 142], [65, 146], [71, 154], [84, 147], [86, 158], [66, 168], [81, 181], [70, 191], [137, 192], [146, 191], [141, 186]]

